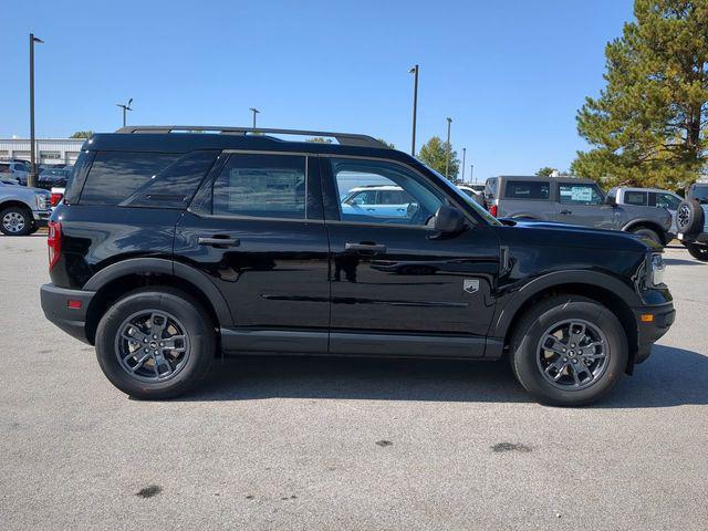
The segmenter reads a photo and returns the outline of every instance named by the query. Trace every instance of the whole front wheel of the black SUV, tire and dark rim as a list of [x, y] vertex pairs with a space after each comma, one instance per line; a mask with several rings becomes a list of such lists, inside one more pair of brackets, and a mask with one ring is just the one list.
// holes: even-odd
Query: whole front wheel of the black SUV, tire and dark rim
[[521, 385], [539, 402], [584, 406], [607, 394], [627, 365], [627, 337], [617, 316], [579, 295], [548, 299], [522, 316], [511, 341]]

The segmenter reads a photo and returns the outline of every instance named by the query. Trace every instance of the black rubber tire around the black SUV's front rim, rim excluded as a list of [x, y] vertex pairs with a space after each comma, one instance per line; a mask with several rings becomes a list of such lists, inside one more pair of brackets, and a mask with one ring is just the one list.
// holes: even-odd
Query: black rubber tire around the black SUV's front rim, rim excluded
[[[573, 320], [582, 320], [601, 331], [607, 344], [604, 368], [595, 379], [584, 384], [586, 387], [577, 389], [551, 384], [542, 374], [542, 362], [538, 361], [541, 357], [540, 342], [545, 332], [556, 323]], [[627, 337], [617, 316], [604, 305], [579, 295], [558, 295], [530, 308], [519, 321], [510, 347], [510, 361], [519, 383], [540, 403], [552, 406], [585, 406], [595, 403], [615, 386], [625, 371], [628, 356]], [[569, 365], [569, 375], [564, 377], [570, 378], [571, 368]]]

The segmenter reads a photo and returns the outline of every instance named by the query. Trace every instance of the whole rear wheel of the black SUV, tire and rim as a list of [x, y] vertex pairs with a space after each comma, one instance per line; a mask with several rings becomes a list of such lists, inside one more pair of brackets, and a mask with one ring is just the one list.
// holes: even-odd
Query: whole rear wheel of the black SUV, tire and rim
[[137, 398], [170, 398], [209, 372], [214, 324], [191, 296], [146, 288], [113, 304], [96, 331], [96, 356], [106, 377]]

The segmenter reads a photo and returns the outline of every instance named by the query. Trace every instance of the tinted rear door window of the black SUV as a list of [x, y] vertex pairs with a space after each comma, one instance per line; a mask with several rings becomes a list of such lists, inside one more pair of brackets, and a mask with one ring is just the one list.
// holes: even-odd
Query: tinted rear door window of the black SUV
[[231, 155], [214, 183], [217, 216], [304, 219], [306, 159], [293, 155]]

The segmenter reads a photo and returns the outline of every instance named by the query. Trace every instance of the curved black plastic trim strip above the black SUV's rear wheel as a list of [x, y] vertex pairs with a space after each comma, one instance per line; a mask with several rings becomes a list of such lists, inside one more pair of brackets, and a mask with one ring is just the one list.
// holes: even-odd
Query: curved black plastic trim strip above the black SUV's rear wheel
[[174, 262], [166, 258], [131, 258], [113, 263], [94, 274], [83, 287], [84, 291], [98, 291], [121, 277], [128, 274], [167, 274], [181, 279], [194, 284], [201, 290], [205, 296], [211, 302], [221, 326], [233, 326], [233, 317], [229, 305], [221, 292], [214, 285], [211, 280], [201, 271]]

